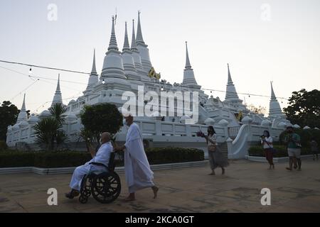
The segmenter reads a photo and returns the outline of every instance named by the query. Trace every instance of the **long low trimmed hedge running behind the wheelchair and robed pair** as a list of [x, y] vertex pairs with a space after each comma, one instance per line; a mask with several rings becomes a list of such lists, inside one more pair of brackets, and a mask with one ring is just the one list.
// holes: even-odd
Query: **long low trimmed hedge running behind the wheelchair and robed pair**
[[[123, 157], [123, 153], [120, 153]], [[193, 148], [147, 148], [149, 163], [164, 164], [204, 160], [203, 150]], [[0, 153], [0, 167], [76, 167], [91, 160], [91, 155], [80, 151], [4, 151]], [[115, 160], [123, 166], [123, 158]]]

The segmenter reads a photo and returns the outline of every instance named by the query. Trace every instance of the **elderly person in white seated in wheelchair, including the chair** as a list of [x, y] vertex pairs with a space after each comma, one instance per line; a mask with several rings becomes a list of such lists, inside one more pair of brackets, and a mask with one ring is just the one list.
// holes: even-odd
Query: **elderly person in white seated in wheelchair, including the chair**
[[82, 204], [92, 196], [101, 203], [110, 203], [117, 199], [121, 191], [119, 176], [114, 172], [114, 152], [110, 142], [110, 133], [102, 133], [100, 148], [95, 153], [92, 145], [88, 145], [92, 160], [75, 168], [70, 181], [71, 191], [65, 196], [73, 199], [79, 196]]

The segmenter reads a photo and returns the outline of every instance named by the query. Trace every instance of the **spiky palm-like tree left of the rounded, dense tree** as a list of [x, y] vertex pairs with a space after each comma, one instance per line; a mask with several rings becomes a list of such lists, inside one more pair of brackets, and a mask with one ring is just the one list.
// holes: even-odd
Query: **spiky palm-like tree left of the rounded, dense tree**
[[54, 150], [68, 141], [68, 135], [63, 131], [66, 108], [63, 104], [54, 104], [49, 111], [51, 116], [41, 119], [33, 129], [36, 142], [45, 145], [46, 150]]

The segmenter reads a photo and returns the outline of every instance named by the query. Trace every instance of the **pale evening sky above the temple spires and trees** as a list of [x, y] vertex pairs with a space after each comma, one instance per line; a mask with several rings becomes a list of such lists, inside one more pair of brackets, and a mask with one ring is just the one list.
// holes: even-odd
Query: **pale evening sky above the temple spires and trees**
[[[58, 7], [57, 21], [48, 20], [49, 4]], [[318, 0], [1, 0], [0, 60], [90, 72], [95, 48], [100, 74], [116, 8], [119, 49], [124, 21], [131, 43], [132, 19], [137, 21], [140, 10], [151, 63], [161, 79], [171, 83], [182, 82], [187, 40], [196, 81], [203, 88], [225, 91], [227, 63], [240, 93], [270, 96], [270, 81], [276, 96], [286, 98], [293, 91], [320, 87]], [[29, 68], [0, 62], [0, 101], [9, 100], [20, 109], [23, 89], [33, 81], [1, 67], [25, 74]], [[65, 104], [82, 94], [88, 79], [85, 74], [32, 71], [50, 79], [60, 73], [61, 80], [80, 83], [61, 82]], [[54, 80], [33, 84], [26, 90], [26, 108], [38, 113], [48, 109], [55, 87]], [[225, 93], [213, 92], [213, 96], [224, 99]], [[239, 96], [247, 104], [269, 109], [270, 98]], [[279, 101], [282, 107], [287, 105]]]

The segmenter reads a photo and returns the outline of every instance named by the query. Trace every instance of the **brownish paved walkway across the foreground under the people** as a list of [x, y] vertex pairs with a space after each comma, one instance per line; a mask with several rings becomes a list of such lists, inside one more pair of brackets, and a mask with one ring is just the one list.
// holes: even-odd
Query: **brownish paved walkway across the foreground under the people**
[[[124, 202], [127, 188], [112, 204], [90, 197], [87, 204], [65, 199], [71, 175], [0, 175], [0, 212], [320, 212], [320, 161], [302, 163], [302, 172], [284, 170], [286, 163], [267, 170], [265, 163], [232, 161], [226, 175], [209, 176], [209, 167], [154, 172], [159, 197], [151, 189]], [[48, 206], [47, 190], [58, 189], [58, 206]], [[271, 190], [271, 206], [262, 206], [262, 188]]]

